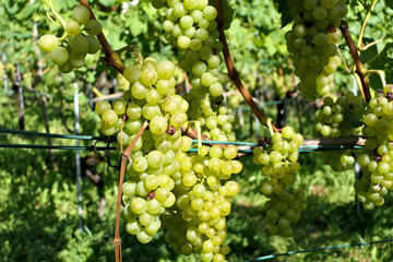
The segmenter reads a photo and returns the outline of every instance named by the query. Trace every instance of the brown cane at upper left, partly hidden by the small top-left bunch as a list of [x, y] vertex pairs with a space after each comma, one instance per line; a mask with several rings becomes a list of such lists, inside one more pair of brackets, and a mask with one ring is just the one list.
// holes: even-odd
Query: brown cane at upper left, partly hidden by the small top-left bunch
[[[80, 0], [80, 3], [88, 9], [88, 11], [91, 13], [91, 20], [96, 20], [88, 1]], [[100, 33], [99, 35], [97, 35], [97, 38], [98, 38], [99, 44], [102, 45], [104, 53], [105, 53], [105, 60], [104, 60], [105, 64], [109, 66], [109, 67], [114, 67], [117, 71], [119, 71], [122, 74], [122, 72], [124, 71], [124, 64], [120, 60], [117, 52], [115, 52], [111, 49], [111, 47], [109, 46], [109, 43], [106, 39], [104, 33]]]

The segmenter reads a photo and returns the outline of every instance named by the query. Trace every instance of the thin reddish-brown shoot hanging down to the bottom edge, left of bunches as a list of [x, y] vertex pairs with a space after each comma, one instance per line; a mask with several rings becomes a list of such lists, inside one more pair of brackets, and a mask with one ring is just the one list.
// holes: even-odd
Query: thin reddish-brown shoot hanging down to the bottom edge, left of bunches
[[[120, 238], [120, 209], [121, 209], [121, 191], [122, 191], [122, 184], [124, 181], [124, 174], [126, 174], [126, 165], [127, 160], [130, 158], [130, 154], [134, 145], [136, 144], [136, 141], [141, 138], [144, 130], [147, 128], [148, 123], [145, 121], [140, 129], [140, 131], [136, 133], [135, 138], [132, 140], [132, 142], [127, 146], [126, 151], [122, 153], [121, 156], [121, 166], [120, 166], [120, 178], [119, 178], [119, 190], [118, 190], [118, 202], [117, 202], [117, 210], [116, 210], [116, 227], [115, 227], [115, 238], [111, 242], [115, 246], [115, 255], [116, 255], [116, 262], [121, 262], [121, 238]], [[121, 141], [120, 141], [121, 143]]]

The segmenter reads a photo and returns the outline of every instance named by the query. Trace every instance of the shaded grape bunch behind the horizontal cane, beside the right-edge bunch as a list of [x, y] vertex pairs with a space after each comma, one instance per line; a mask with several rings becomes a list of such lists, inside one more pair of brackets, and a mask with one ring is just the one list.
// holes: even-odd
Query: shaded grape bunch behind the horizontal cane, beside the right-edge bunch
[[[352, 92], [347, 92], [336, 102], [326, 96], [323, 99], [323, 107], [315, 111], [317, 136], [338, 138], [359, 133], [364, 106], [361, 95], [355, 96]], [[355, 157], [350, 151], [322, 152], [322, 154], [326, 156], [323, 158], [333, 170], [344, 171], [355, 165]]]

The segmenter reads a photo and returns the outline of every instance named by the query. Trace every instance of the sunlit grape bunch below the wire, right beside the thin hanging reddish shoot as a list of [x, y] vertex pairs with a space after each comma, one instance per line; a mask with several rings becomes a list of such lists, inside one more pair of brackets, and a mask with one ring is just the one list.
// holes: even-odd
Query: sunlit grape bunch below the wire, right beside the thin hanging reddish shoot
[[[135, 235], [142, 243], [152, 240], [162, 227], [160, 216], [176, 203], [177, 196], [172, 192], [175, 178], [181, 176], [176, 156], [179, 151], [189, 151], [192, 144], [190, 138], [181, 136], [180, 130], [160, 139], [163, 142], [156, 146], [157, 150], [141, 148], [131, 155], [132, 163], [127, 167], [131, 180], [122, 188], [126, 206], [121, 217], [127, 221], [127, 231]], [[151, 140], [159, 143], [159, 140]]]

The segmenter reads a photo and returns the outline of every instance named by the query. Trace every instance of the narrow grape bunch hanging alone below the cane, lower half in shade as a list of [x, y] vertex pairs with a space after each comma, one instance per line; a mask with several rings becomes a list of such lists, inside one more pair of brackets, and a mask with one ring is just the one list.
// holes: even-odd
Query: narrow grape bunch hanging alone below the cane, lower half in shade
[[276, 132], [272, 142], [267, 141], [267, 148], [255, 147], [253, 162], [263, 165], [262, 175], [269, 180], [262, 183], [262, 193], [270, 200], [265, 207], [269, 231], [279, 233], [285, 237], [291, 237], [294, 230], [291, 223], [297, 223], [302, 210], [301, 202], [305, 193], [300, 189], [291, 187], [296, 180], [296, 172], [300, 170], [297, 162], [298, 147], [303, 142], [303, 136], [295, 133], [290, 127], [285, 127], [282, 133]]

